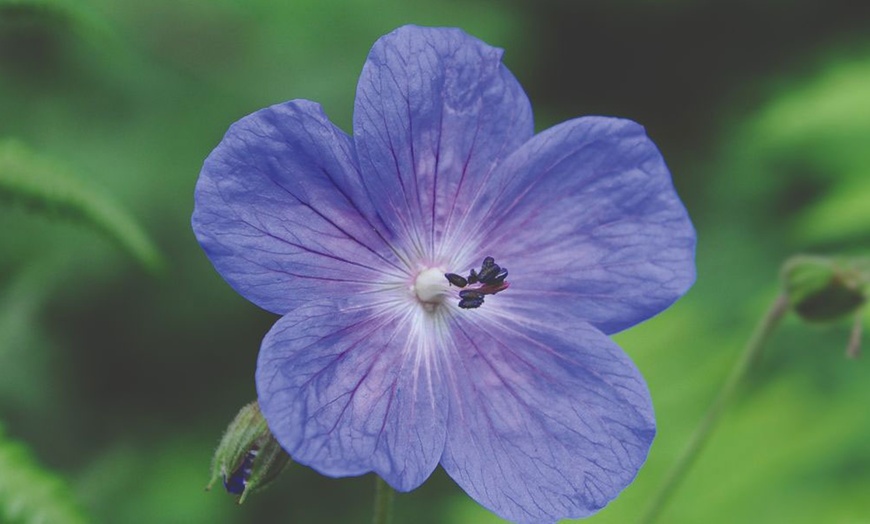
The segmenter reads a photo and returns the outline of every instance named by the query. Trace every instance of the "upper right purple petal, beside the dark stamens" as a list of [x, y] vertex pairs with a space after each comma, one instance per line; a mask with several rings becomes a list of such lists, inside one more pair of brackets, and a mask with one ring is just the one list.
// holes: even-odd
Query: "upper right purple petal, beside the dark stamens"
[[511, 304], [567, 309], [605, 333], [645, 320], [695, 279], [695, 232], [638, 124], [578, 118], [535, 136], [503, 169], [480, 234], [510, 269]]

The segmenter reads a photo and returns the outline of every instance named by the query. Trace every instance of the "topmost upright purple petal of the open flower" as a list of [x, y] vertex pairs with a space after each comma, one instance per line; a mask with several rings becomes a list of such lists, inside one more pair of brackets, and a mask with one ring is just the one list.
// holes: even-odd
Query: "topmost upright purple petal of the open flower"
[[354, 140], [365, 184], [429, 261], [453, 255], [494, 167], [532, 136], [528, 98], [501, 55], [458, 29], [406, 26], [363, 67]]

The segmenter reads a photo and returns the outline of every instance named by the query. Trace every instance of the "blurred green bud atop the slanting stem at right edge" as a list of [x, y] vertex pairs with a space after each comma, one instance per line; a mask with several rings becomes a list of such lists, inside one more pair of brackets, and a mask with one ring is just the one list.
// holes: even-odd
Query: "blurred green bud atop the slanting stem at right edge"
[[796, 256], [782, 275], [789, 303], [807, 321], [838, 320], [858, 312], [867, 299], [865, 274], [844, 259]]

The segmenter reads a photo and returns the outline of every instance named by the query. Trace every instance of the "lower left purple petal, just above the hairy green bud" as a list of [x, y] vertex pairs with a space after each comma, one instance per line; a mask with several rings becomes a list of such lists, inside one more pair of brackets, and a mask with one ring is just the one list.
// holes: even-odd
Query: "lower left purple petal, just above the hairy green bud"
[[[403, 312], [401, 312], [403, 311]], [[263, 341], [257, 393], [296, 462], [330, 476], [378, 473], [407, 491], [444, 449], [447, 402], [422, 310], [302, 306]]]

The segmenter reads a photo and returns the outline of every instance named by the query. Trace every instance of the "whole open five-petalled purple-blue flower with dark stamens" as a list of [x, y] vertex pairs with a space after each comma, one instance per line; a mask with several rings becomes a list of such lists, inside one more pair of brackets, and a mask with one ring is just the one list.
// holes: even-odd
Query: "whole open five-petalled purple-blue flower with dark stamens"
[[641, 126], [535, 135], [501, 54], [457, 29], [382, 37], [353, 136], [304, 100], [241, 119], [205, 161], [193, 228], [282, 315], [256, 382], [296, 462], [400, 491], [440, 464], [507, 519], [582, 517], [655, 434], [607, 335], [689, 288], [695, 235]]

